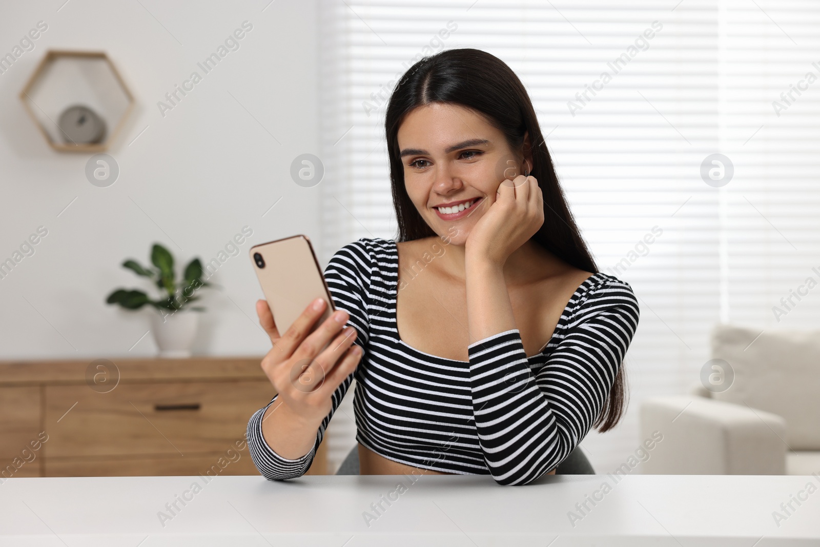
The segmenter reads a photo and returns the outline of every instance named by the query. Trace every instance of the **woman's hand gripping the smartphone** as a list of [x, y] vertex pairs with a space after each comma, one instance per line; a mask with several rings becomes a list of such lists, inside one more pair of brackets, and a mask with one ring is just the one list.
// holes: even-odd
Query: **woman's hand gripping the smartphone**
[[[362, 349], [353, 344], [356, 330], [344, 326], [348, 313], [336, 310], [310, 335], [327, 303], [317, 299], [280, 335], [266, 300], [257, 300], [259, 324], [271, 337], [273, 348], [262, 358], [262, 370], [279, 394], [280, 407], [306, 425], [318, 426], [330, 413], [330, 396], [356, 369]], [[330, 345], [328, 345], [330, 343]], [[322, 348], [327, 348], [322, 350]]]

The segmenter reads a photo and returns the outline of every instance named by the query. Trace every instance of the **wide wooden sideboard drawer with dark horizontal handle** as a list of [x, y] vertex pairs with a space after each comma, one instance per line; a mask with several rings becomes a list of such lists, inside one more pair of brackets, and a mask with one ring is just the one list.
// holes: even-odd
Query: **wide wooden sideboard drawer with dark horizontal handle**
[[220, 453], [244, 439], [248, 419], [271, 400], [263, 381], [47, 385], [49, 458]]

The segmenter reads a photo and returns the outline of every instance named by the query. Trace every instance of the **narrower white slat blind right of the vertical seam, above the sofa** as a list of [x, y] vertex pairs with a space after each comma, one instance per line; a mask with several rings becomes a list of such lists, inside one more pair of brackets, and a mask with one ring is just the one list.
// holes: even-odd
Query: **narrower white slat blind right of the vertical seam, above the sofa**
[[816, 327], [820, 3], [726, 3], [727, 315], [759, 330]]

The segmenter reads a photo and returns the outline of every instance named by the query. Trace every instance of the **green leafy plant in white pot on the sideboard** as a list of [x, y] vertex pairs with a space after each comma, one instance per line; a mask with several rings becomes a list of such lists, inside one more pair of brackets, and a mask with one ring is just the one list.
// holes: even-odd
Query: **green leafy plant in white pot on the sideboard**
[[202, 312], [205, 309], [191, 304], [201, 298], [196, 294], [198, 289], [211, 286], [202, 280], [202, 262], [198, 258], [191, 260], [185, 267], [182, 278], [177, 280], [174, 257], [161, 244], [153, 244], [151, 263], [153, 267], [146, 268], [139, 262], [128, 259], [122, 263], [122, 267], [152, 280], [153, 285], [161, 291], [160, 298], [151, 299], [142, 290], [115, 289], [108, 295], [106, 303], [119, 304], [128, 310], [153, 307], [157, 313], [152, 315], [151, 330], [160, 349], [160, 356], [190, 357], [198, 325], [198, 315], [192, 312]]

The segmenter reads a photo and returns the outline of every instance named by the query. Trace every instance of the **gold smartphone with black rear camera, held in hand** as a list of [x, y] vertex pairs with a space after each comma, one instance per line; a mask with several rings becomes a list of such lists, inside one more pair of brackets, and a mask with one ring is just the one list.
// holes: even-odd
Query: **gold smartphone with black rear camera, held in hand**
[[328, 306], [310, 332], [335, 312], [333, 298], [307, 235], [254, 245], [248, 252], [280, 335], [285, 335], [315, 299], [324, 299]]

